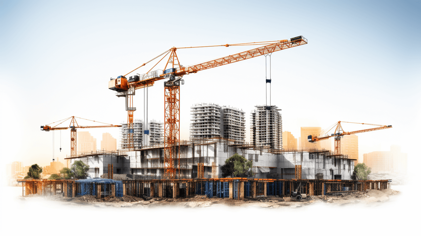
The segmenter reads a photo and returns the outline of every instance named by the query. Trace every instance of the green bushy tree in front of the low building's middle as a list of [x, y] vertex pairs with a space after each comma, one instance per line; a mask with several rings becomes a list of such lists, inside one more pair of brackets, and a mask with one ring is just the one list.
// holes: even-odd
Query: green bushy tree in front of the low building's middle
[[251, 170], [252, 161], [247, 161], [243, 156], [235, 153], [232, 157], [225, 160], [225, 164], [221, 166], [222, 177], [250, 177], [254, 173]]

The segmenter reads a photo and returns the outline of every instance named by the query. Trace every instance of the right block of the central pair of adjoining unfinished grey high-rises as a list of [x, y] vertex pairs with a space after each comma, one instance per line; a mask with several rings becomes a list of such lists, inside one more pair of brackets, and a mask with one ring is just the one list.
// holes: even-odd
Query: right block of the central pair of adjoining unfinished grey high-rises
[[221, 137], [244, 143], [245, 112], [235, 107], [221, 107]]

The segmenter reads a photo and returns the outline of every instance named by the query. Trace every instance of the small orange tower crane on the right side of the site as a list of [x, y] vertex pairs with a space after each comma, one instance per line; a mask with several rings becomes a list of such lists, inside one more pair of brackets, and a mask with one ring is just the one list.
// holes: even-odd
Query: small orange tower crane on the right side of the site
[[[357, 131], [352, 131], [352, 132], [346, 132], [342, 129], [341, 126], [341, 122], [343, 123], [354, 123], [354, 124], [363, 124], [363, 125], [372, 125], [372, 126], [379, 126], [376, 128], [370, 128], [370, 129], [361, 129], [361, 130], [357, 130]], [[332, 130], [334, 127], [335, 128], [335, 133], [333, 134], [328, 134], [330, 130]], [[333, 125], [332, 128], [330, 128], [328, 131], [325, 132], [325, 135], [322, 137], [318, 137], [318, 136], [313, 136], [313, 135], [309, 135], [307, 137], [307, 140], [311, 143], [316, 143], [317, 141], [322, 141], [322, 140], [326, 140], [329, 139], [330, 137], [335, 137], [335, 155], [341, 155], [341, 138], [344, 137], [344, 135], [348, 135], [348, 134], [358, 134], [358, 133], [363, 133], [363, 132], [368, 132], [368, 131], [374, 131], [374, 130], [379, 130], [379, 129], [389, 129], [392, 128], [391, 125], [375, 125], [375, 124], [368, 124], [368, 123], [356, 123], [356, 122], [346, 122], [346, 121], [338, 121], [337, 123], [335, 123]]]

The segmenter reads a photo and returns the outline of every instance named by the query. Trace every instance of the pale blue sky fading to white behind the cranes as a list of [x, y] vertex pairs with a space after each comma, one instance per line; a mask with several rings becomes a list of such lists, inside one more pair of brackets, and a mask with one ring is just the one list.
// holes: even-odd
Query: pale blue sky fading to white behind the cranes
[[[282, 109], [283, 130], [298, 138], [301, 126], [323, 129], [339, 120], [392, 124], [393, 129], [359, 134], [360, 156], [397, 144], [415, 157], [420, 10], [420, 1], [0, 0], [2, 153], [25, 165], [35, 159], [45, 165], [52, 158], [52, 134], [39, 126], [72, 115], [125, 121], [124, 99], [107, 89], [109, 78], [173, 46], [303, 35], [307, 45], [272, 55], [272, 104]], [[251, 48], [179, 49], [177, 54], [189, 65]], [[213, 102], [246, 112], [248, 141], [250, 110], [265, 101], [263, 56], [184, 80], [182, 139], [189, 135], [189, 107]], [[143, 118], [143, 93], [136, 92], [135, 118]], [[152, 118], [163, 120], [162, 80], [149, 88]], [[360, 128], [365, 127], [344, 126], [349, 131]], [[103, 132], [119, 138], [114, 128], [89, 131], [98, 148]], [[61, 153], [55, 135], [60, 159], [69, 154], [69, 131], [61, 135]]]

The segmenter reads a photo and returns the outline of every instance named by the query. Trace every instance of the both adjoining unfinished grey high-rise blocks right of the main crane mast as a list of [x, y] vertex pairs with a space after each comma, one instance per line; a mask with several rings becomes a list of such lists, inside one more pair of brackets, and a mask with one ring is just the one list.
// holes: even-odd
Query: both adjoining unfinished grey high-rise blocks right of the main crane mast
[[235, 107], [199, 103], [192, 108], [190, 138], [222, 137], [243, 143], [245, 139], [245, 113]]

